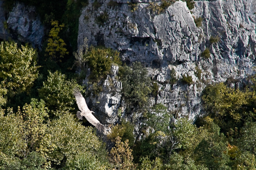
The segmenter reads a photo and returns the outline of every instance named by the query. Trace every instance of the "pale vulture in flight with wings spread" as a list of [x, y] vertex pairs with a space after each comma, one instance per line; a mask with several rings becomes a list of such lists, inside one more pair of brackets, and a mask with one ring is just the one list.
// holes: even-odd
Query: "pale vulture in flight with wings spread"
[[99, 131], [104, 132], [105, 126], [102, 125], [101, 122], [98, 121], [97, 118], [93, 116], [92, 113], [94, 113], [94, 112], [90, 111], [90, 109], [88, 108], [86, 101], [85, 101], [84, 97], [82, 96], [79, 88], [73, 89], [73, 95], [76, 98], [76, 104], [80, 110], [80, 111], [76, 112], [77, 118], [82, 120], [82, 117], [85, 117], [86, 120], [88, 120], [88, 122], [90, 122], [90, 124], [95, 126]]

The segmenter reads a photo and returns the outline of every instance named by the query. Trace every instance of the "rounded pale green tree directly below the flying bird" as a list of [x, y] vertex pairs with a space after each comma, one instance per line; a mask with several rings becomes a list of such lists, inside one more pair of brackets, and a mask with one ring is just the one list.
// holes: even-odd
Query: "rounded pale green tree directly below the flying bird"
[[[99, 162], [96, 157], [102, 143], [92, 130], [92, 128], [81, 126], [74, 120], [72, 114], [63, 113], [59, 119], [49, 123], [47, 134], [50, 136], [44, 140], [47, 143], [42, 144], [51, 151], [46, 152], [48, 160], [55, 165], [61, 165], [65, 161], [69, 168], [80, 166], [81, 169], [86, 167], [104, 169], [104, 162]], [[87, 160], [87, 162], [82, 162], [82, 160]]]

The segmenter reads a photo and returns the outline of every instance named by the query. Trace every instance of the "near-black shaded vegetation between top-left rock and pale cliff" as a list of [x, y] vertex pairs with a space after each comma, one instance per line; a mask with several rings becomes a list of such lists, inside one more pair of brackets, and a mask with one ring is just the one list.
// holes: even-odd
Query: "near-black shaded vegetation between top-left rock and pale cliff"
[[[7, 10], [11, 10], [16, 0], [4, 1], [3, 6]], [[64, 41], [66, 44], [71, 44], [71, 48], [76, 50], [77, 48], [77, 35], [79, 16], [81, 8], [88, 5], [86, 0], [56, 0], [56, 1], [44, 1], [44, 0], [19, 0], [19, 2], [25, 5], [35, 6], [36, 13], [39, 14], [40, 19], [46, 26], [46, 30], [51, 29], [51, 21], [57, 20], [59, 23], [64, 23], [65, 27]], [[48, 34], [48, 33], [47, 33]], [[62, 36], [61, 35], [61, 36]]]

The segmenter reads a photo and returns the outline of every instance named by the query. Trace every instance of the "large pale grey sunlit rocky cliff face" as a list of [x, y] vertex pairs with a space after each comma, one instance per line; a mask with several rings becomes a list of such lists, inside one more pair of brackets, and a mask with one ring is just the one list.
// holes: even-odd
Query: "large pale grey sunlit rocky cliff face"
[[[231, 85], [242, 86], [254, 73], [254, 0], [195, 1], [192, 10], [183, 1], [162, 9], [156, 6], [160, 2], [98, 2], [100, 7], [90, 2], [82, 10], [78, 45], [87, 37], [89, 45], [119, 50], [128, 64], [142, 62], [159, 85], [155, 103], [165, 104], [175, 117], [195, 119], [203, 113], [200, 96], [207, 84], [236, 79]], [[200, 17], [201, 26], [195, 23]], [[209, 49], [209, 58], [202, 55], [205, 49]], [[192, 76], [193, 83], [169, 83], [174, 76], [181, 79], [184, 75]], [[119, 90], [121, 83], [115, 81]], [[105, 115], [105, 123], [113, 123], [118, 119], [118, 108], [119, 114], [125, 109], [120, 107], [119, 91], [113, 94], [108, 89], [104, 88], [97, 100], [92, 96], [88, 100], [100, 108], [98, 115]], [[103, 105], [98, 107], [99, 103]]]

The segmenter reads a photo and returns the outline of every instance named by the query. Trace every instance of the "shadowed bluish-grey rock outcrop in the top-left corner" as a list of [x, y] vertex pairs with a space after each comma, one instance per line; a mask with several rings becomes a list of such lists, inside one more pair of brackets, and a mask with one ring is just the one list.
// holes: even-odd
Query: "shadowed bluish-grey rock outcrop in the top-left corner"
[[15, 3], [13, 10], [7, 13], [2, 4], [3, 1], [0, 1], [0, 38], [30, 42], [34, 48], [40, 48], [44, 26], [36, 15], [35, 7]]

